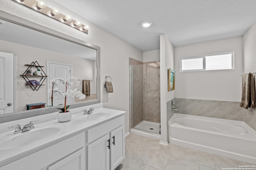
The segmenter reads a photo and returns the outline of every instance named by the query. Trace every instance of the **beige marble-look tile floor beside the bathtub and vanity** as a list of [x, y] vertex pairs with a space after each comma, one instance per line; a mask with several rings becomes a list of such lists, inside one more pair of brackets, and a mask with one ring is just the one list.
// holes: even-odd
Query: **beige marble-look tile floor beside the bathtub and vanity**
[[116, 170], [224, 170], [250, 163], [189, 149], [130, 133], [125, 138], [126, 158]]

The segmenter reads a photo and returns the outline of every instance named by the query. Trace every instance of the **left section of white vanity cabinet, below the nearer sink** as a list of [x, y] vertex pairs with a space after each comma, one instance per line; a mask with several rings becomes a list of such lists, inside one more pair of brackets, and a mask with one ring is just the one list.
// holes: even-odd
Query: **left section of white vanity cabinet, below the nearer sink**
[[78, 133], [44, 149], [21, 155], [20, 159], [2, 166], [0, 170], [84, 170], [84, 145], [85, 133]]

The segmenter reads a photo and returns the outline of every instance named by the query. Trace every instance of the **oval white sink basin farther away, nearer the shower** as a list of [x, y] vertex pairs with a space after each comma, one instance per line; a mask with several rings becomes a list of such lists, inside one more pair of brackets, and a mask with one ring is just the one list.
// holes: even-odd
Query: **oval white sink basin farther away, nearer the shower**
[[108, 117], [110, 115], [109, 111], [93, 111], [89, 115], [80, 114], [77, 116], [77, 120], [79, 121], [94, 121], [100, 120]]

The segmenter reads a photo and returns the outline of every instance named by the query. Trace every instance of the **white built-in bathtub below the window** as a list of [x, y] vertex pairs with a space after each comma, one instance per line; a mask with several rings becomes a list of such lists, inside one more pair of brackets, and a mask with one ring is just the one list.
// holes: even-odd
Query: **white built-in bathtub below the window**
[[243, 121], [174, 113], [168, 131], [170, 143], [256, 163], [256, 131]]

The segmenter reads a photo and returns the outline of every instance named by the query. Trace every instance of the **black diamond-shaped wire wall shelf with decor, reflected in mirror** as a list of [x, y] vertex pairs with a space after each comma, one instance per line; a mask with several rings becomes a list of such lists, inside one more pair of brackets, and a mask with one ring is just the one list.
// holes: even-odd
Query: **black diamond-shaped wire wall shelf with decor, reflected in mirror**
[[[48, 77], [44, 70], [42, 69], [42, 67], [44, 66], [40, 66], [37, 61], [33, 61], [31, 64], [25, 64], [25, 66], [28, 66], [28, 68], [26, 69], [26, 71], [21, 74], [20, 76], [22, 76], [24, 78], [24, 80], [26, 81], [25, 86], [30, 86], [30, 88], [32, 88], [32, 90], [36, 90], [38, 91], [38, 89], [41, 86], [44, 86], [43, 82], [46, 79], [46, 77]], [[31, 68], [36, 67], [36, 71], [33, 72], [33, 75], [31, 75]], [[40, 69], [39, 69], [40, 68]], [[37, 80], [30, 80], [28, 77], [30, 76], [34, 76], [34, 77], [38, 77], [38, 79], [40, 79], [39, 81]]]

